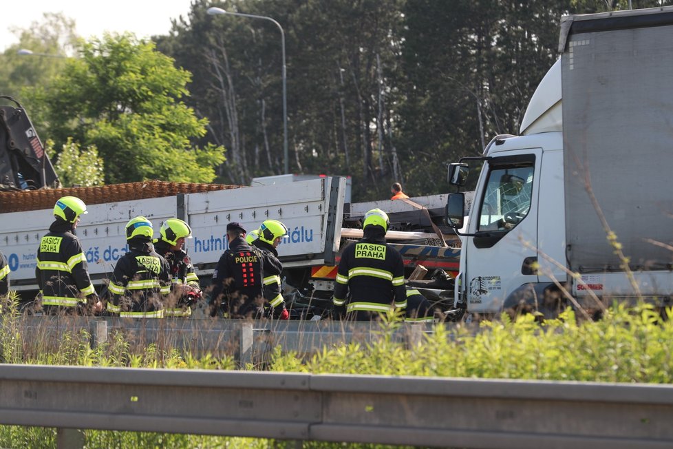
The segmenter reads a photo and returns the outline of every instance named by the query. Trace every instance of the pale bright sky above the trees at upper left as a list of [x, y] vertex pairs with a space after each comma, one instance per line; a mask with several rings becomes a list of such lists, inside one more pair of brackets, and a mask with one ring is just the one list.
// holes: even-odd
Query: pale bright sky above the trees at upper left
[[10, 0], [0, 7], [0, 52], [19, 43], [10, 28], [43, 22], [43, 13], [74, 19], [77, 34], [88, 39], [103, 32], [133, 32], [139, 38], [168, 34], [171, 19], [187, 17], [191, 0]]

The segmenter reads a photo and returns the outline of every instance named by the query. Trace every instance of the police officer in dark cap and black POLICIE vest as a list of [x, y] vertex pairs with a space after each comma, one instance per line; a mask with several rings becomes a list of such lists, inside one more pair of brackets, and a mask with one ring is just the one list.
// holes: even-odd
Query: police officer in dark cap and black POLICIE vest
[[220, 308], [231, 318], [264, 316], [264, 255], [246, 242], [246, 230], [238, 222], [226, 225], [229, 247], [213, 271], [210, 313]]

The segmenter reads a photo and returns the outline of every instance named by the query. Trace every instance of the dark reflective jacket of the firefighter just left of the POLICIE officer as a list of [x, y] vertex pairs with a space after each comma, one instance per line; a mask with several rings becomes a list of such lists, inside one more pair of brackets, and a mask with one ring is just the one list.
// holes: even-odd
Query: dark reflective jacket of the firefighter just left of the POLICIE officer
[[[180, 288], [183, 285], [193, 286], [195, 289], [201, 288], [199, 286], [199, 278], [194, 272], [194, 267], [191, 264], [191, 260], [186, 251], [183, 251], [182, 249], [173, 251], [171, 249], [171, 244], [161, 239], [155, 240], [154, 251], [169, 263], [169, 273], [171, 273], [171, 293], [180, 291]], [[180, 291], [180, 297], [171, 297], [168, 304], [165, 304], [164, 316], [189, 317], [191, 315], [191, 307], [186, 304], [186, 299], [187, 298], [182, 295], [182, 291]]]

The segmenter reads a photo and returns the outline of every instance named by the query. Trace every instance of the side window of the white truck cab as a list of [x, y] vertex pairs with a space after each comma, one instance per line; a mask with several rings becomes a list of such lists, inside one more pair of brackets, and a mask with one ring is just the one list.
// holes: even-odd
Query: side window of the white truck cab
[[533, 164], [493, 167], [481, 205], [478, 231], [509, 231], [528, 215], [533, 192]]

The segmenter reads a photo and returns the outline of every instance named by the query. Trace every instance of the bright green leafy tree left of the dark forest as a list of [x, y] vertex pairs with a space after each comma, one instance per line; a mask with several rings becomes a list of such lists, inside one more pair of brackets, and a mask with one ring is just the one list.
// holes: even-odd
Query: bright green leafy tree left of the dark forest
[[132, 34], [82, 43], [79, 56], [32, 92], [56, 147], [72, 138], [98, 148], [107, 183], [215, 178], [224, 148], [191, 143], [204, 136], [208, 121], [182, 101], [189, 72]]

